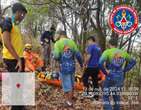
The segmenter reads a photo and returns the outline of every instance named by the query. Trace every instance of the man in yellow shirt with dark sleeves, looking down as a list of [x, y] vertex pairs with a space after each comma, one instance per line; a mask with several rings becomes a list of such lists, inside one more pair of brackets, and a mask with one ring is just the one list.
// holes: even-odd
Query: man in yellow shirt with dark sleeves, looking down
[[[12, 17], [5, 17], [1, 25], [3, 61], [8, 72], [24, 72], [22, 34], [18, 28], [27, 13], [21, 3], [12, 6]], [[25, 110], [24, 106], [12, 106], [11, 110]]]

